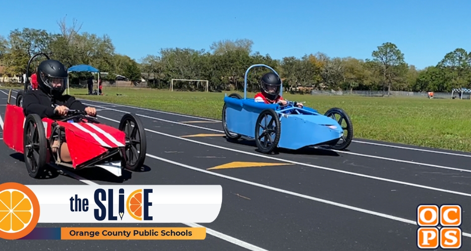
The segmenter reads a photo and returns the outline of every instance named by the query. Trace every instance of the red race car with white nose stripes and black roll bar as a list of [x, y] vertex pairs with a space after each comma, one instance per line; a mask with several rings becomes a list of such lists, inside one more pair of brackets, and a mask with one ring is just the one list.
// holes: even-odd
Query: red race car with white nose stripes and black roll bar
[[[31, 61], [28, 62], [28, 76]], [[141, 120], [127, 113], [121, 118], [118, 129], [101, 124], [96, 117], [86, 115], [84, 111], [69, 110], [60, 119], [43, 118], [38, 114], [25, 117], [22, 107], [23, 94], [28, 90], [29, 79], [25, 89], [17, 96], [17, 103], [11, 104], [11, 93], [8, 94], [7, 109], [4, 121], [4, 142], [11, 149], [23, 153], [26, 168], [31, 177], [41, 175], [46, 164], [66, 168], [82, 169], [101, 167], [110, 173], [121, 176], [122, 168], [138, 170], [146, 158], [146, 134]], [[71, 163], [62, 162], [59, 150], [53, 153], [51, 145], [54, 140], [61, 141], [65, 136]]]

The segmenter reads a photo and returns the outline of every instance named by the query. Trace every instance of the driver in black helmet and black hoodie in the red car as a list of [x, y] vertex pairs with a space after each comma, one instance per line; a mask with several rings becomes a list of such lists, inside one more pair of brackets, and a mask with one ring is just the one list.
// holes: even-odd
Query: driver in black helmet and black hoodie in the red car
[[[68, 72], [61, 62], [51, 59], [41, 62], [37, 75], [38, 91], [27, 91], [23, 98], [23, 112], [26, 116], [36, 113], [41, 118], [54, 118], [66, 115], [68, 109], [84, 110], [88, 115], [96, 115], [95, 108], [85, 106], [73, 96], [62, 95], [67, 85]], [[51, 148], [55, 153], [59, 148], [59, 141], [54, 141]], [[61, 160], [71, 162], [67, 143], [64, 142], [60, 148]]]

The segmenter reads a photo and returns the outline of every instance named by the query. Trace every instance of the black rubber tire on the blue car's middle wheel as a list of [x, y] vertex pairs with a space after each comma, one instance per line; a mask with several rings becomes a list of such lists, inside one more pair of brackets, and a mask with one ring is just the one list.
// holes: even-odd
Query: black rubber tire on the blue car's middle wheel
[[[261, 141], [262, 138], [267, 136], [267, 133], [265, 132], [265, 130], [262, 132], [262, 135], [259, 135], [260, 129], [263, 128], [263, 126], [261, 125], [261, 122], [268, 115], [272, 116], [272, 119], [270, 119], [268, 124], [272, 124], [273, 122], [275, 122], [275, 128], [270, 130], [271, 133], [275, 133], [275, 139], [273, 139], [270, 146], [268, 146], [268, 141], [266, 141], [266, 144], [262, 143]], [[280, 136], [281, 136], [281, 123], [278, 117], [278, 113], [276, 113], [273, 109], [266, 109], [260, 112], [259, 117], [257, 118], [257, 123], [255, 124], [255, 143], [257, 144], [257, 148], [259, 149], [259, 151], [264, 154], [272, 153], [278, 147]], [[265, 137], [265, 138], [267, 139], [268, 137]]]

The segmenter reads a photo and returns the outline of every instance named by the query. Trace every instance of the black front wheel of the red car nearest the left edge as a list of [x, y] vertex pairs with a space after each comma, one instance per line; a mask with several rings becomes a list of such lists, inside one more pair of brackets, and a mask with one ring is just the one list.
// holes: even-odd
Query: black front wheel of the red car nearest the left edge
[[38, 114], [26, 117], [23, 142], [26, 169], [31, 177], [37, 178], [44, 171], [47, 156], [46, 132]]

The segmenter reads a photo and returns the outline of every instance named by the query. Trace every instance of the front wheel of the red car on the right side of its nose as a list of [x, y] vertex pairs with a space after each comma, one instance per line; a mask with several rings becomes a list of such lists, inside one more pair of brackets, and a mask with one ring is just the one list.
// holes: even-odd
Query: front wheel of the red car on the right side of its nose
[[146, 160], [147, 142], [144, 124], [139, 117], [127, 113], [121, 118], [120, 131], [126, 134], [126, 169], [136, 171]]

